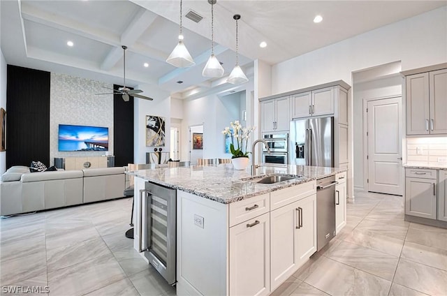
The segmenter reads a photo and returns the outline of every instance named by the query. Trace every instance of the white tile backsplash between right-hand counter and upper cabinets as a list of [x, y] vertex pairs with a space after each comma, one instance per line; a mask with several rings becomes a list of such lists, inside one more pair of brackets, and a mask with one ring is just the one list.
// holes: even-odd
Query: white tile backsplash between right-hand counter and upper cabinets
[[447, 137], [406, 138], [406, 161], [447, 163]]

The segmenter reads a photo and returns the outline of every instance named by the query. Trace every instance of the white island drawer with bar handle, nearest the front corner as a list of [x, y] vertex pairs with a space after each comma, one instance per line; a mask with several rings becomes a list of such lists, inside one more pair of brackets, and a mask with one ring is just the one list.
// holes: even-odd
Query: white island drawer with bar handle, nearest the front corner
[[230, 203], [230, 227], [270, 211], [270, 193]]

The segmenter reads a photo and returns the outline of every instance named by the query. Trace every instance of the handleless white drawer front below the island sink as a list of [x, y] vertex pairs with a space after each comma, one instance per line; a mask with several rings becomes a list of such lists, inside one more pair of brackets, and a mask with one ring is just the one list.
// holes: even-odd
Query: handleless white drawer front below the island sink
[[291, 186], [270, 193], [270, 209], [274, 210], [316, 193], [316, 181]]

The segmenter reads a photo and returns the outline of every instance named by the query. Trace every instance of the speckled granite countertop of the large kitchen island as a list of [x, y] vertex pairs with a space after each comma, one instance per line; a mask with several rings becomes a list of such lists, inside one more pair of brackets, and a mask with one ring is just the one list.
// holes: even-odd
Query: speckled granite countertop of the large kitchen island
[[[231, 163], [226, 163], [135, 170], [126, 172], [126, 174], [228, 204], [346, 171], [342, 168], [269, 164], [261, 165], [257, 169], [257, 175], [252, 177], [249, 170], [250, 167], [247, 170], [234, 170]], [[290, 175], [297, 179], [276, 184], [256, 183], [261, 177], [272, 174]]]

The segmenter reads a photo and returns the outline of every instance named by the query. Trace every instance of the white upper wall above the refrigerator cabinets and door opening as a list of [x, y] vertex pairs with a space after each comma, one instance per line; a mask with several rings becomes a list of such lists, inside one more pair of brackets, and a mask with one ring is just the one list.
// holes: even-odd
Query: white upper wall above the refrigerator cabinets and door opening
[[276, 64], [271, 94], [335, 80], [351, 85], [353, 71], [392, 61], [402, 61], [402, 71], [445, 63], [446, 15], [444, 6]]

